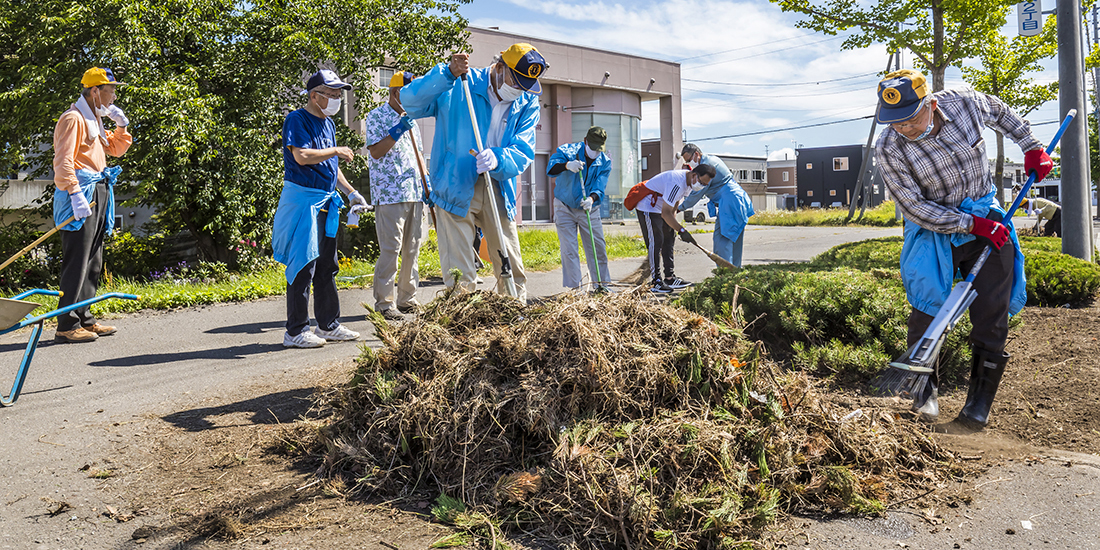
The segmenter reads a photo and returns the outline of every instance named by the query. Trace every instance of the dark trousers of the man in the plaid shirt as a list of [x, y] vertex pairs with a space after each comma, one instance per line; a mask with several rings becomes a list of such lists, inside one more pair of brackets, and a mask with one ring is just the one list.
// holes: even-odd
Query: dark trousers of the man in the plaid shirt
[[[952, 248], [952, 261], [955, 268], [966, 276], [970, 272], [981, 251], [986, 248], [985, 239], [975, 239], [963, 246]], [[989, 350], [991, 353], [1004, 351], [1004, 342], [1009, 338], [1009, 301], [1012, 298], [1012, 275], [1015, 267], [1015, 244], [1010, 240], [994, 250], [986, 265], [974, 279], [974, 289], [978, 297], [970, 305], [970, 343]], [[913, 309], [909, 315], [909, 345], [912, 346], [932, 324], [933, 317]]]

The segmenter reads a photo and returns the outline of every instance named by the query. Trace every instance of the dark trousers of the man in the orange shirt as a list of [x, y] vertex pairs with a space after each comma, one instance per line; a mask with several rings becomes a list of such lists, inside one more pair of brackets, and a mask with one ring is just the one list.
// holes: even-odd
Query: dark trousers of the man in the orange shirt
[[[103, 237], [107, 233], [107, 185], [96, 184], [91, 216], [76, 231], [62, 230], [61, 290], [57, 307], [72, 306], [96, 297], [99, 276], [103, 273]], [[96, 318], [91, 308], [82, 307], [57, 317], [57, 330], [68, 332], [77, 327], [91, 327]]]

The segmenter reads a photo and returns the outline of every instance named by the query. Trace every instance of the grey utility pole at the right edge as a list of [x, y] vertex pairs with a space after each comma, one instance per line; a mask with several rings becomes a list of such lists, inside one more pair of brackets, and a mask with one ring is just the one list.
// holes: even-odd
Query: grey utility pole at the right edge
[[[1058, 110], [1084, 113], [1085, 58], [1081, 55], [1081, 8], [1077, 1], [1057, 4]], [[1062, 138], [1062, 252], [1081, 260], [1092, 258], [1092, 216], [1089, 182], [1088, 117], [1074, 119]]]

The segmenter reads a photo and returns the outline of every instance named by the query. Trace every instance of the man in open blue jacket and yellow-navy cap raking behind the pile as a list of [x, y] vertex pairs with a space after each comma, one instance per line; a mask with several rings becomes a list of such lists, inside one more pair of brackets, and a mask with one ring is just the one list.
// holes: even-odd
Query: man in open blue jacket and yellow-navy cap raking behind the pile
[[[469, 54], [454, 54], [422, 78], [402, 89], [402, 105], [414, 119], [435, 117], [431, 146], [431, 200], [437, 208], [439, 263], [447, 286], [476, 288], [477, 270], [470, 243], [475, 228], [485, 234], [493, 256], [497, 292], [505, 293], [498, 251], [507, 246], [518, 298], [527, 301], [527, 275], [516, 231], [516, 178], [535, 160], [535, 128], [539, 123], [539, 76], [546, 59], [530, 44], [513, 44], [485, 68], [470, 68]], [[477, 128], [485, 148], [476, 150], [470, 110], [460, 77], [468, 75]], [[482, 174], [493, 178], [487, 188]], [[496, 201], [501, 232], [491, 218]], [[451, 270], [461, 275], [453, 279]]]

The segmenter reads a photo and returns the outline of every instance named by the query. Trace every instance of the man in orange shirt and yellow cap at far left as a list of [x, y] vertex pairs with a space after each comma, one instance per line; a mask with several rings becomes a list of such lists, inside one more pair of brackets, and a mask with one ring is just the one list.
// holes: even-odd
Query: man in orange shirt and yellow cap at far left
[[[92, 67], [80, 79], [76, 102], [57, 120], [54, 129], [54, 222], [75, 220], [62, 228], [62, 277], [64, 308], [96, 296], [103, 271], [103, 238], [114, 229], [114, 180], [122, 168], [107, 166], [107, 155], [122, 156], [133, 136], [130, 121], [114, 103], [120, 82], [111, 69]], [[114, 130], [103, 128], [103, 117]], [[57, 317], [57, 342], [92, 342], [116, 332], [96, 322], [88, 307]]]

